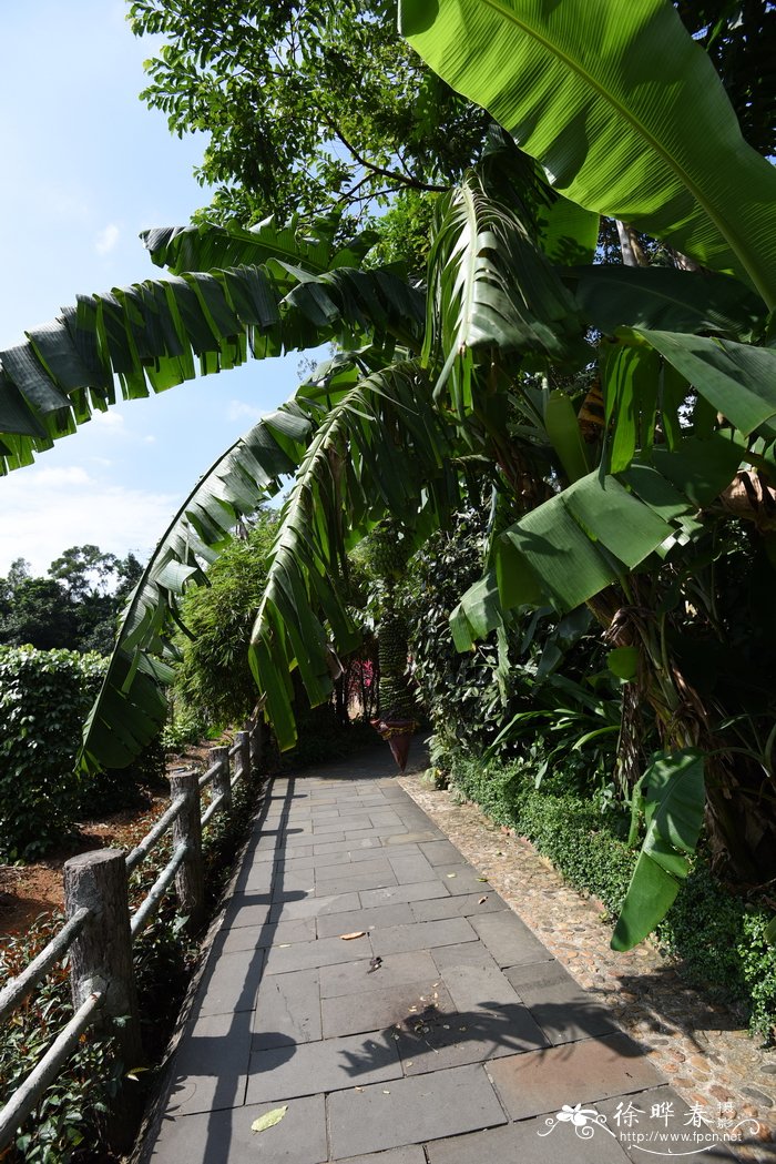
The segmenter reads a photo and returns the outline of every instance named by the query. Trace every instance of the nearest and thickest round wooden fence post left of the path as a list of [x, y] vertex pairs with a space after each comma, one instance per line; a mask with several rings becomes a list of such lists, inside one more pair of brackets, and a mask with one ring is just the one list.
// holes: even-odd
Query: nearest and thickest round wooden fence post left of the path
[[[102, 1022], [100, 1027], [115, 1037], [124, 1072], [130, 1071], [142, 1064], [143, 1048], [123, 852], [101, 849], [71, 857], [64, 866], [64, 889], [69, 918], [84, 907], [91, 911], [70, 947], [73, 1008], [78, 1009], [93, 991], [104, 993], [106, 1018], [123, 1018], [124, 1022], [121, 1025]], [[134, 1084], [124, 1083], [112, 1103], [109, 1135], [119, 1150], [127, 1151], [131, 1147], [140, 1102], [140, 1091]]]

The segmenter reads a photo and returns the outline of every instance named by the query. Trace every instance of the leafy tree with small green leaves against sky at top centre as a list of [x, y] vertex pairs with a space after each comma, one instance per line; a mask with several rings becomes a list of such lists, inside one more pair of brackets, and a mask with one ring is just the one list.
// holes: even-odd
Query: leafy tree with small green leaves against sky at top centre
[[422, 66], [385, 0], [136, 0], [130, 19], [168, 42], [142, 97], [179, 136], [209, 134], [209, 219], [358, 215], [397, 190], [447, 189], [482, 146], [482, 109]]

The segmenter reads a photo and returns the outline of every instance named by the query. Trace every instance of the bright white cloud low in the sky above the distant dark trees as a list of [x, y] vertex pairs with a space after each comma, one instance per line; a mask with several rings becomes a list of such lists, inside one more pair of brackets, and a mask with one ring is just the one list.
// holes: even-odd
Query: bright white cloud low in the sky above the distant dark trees
[[173, 496], [111, 485], [79, 466], [9, 474], [0, 482], [0, 575], [26, 558], [36, 575], [86, 542], [123, 556], [150, 553], [176, 511]]

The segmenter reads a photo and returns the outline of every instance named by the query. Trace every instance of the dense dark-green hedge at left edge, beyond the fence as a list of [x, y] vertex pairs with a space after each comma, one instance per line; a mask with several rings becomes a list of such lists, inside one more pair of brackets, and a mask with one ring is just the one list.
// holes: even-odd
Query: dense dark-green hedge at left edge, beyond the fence
[[0, 647], [0, 854], [44, 853], [69, 831], [83, 785], [76, 754], [105, 660]]

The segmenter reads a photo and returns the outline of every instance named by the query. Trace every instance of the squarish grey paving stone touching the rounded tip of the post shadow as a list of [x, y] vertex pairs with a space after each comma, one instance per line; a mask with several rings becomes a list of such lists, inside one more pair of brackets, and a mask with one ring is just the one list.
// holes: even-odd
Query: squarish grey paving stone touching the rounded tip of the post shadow
[[298, 970], [264, 978], [255, 1000], [251, 1031], [255, 1051], [319, 1039], [321, 992], [318, 970]]

